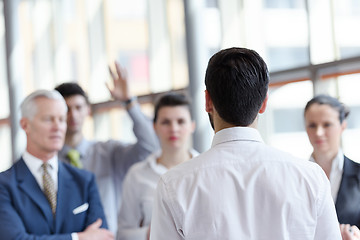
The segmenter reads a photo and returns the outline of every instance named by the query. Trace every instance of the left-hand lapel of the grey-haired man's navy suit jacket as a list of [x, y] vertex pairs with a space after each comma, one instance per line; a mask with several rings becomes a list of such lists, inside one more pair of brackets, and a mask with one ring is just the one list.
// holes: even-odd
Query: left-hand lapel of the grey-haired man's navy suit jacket
[[49, 223], [50, 229], [53, 231], [54, 218], [51, 212], [50, 204], [22, 158], [16, 164], [15, 169], [19, 188], [28, 195], [28, 197], [31, 198], [41, 210], [44, 218]]

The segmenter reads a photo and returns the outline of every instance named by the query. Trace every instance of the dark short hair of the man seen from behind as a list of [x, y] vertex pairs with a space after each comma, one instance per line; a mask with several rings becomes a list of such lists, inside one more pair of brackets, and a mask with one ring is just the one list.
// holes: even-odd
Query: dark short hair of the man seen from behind
[[245, 127], [255, 120], [266, 98], [269, 72], [257, 52], [228, 48], [210, 58], [205, 85], [219, 116]]

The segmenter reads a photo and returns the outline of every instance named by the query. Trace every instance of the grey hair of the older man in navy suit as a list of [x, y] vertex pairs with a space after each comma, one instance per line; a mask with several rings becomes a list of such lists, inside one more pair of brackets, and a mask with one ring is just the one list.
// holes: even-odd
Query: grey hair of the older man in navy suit
[[20, 105], [21, 117], [32, 119], [35, 116], [38, 107], [35, 103], [35, 100], [41, 97], [53, 100], [60, 100], [67, 109], [66, 102], [58, 91], [36, 90], [22, 101]]

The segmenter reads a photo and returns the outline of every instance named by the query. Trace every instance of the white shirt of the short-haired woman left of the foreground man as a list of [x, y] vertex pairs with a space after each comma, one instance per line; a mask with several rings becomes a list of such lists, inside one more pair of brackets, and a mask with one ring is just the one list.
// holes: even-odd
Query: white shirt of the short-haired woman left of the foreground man
[[[199, 155], [190, 150], [192, 157]], [[156, 185], [160, 176], [168, 171], [157, 163], [161, 151], [151, 154], [145, 161], [134, 164], [123, 184], [122, 205], [119, 214], [118, 240], [145, 240], [151, 221]]]

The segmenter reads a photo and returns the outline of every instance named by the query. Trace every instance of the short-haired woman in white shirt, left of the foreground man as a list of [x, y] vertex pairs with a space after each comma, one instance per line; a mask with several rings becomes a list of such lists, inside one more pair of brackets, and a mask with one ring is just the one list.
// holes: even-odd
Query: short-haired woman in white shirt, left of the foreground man
[[117, 234], [119, 240], [148, 238], [153, 199], [160, 176], [198, 155], [190, 148], [195, 123], [191, 118], [190, 103], [184, 95], [170, 93], [159, 99], [155, 105], [154, 129], [160, 140], [161, 151], [133, 165], [123, 183]]

